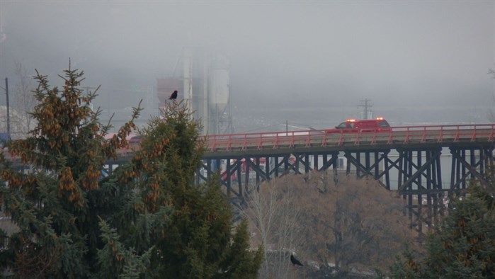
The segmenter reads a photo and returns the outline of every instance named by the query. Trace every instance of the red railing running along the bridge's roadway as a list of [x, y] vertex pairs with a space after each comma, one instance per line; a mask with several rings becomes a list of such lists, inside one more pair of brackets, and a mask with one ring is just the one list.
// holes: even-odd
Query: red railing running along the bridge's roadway
[[331, 132], [301, 130], [286, 132], [252, 132], [227, 135], [207, 135], [207, 151], [246, 149], [278, 149], [314, 146], [358, 144], [411, 144], [426, 142], [493, 141], [495, 124], [476, 125], [416, 125], [392, 127], [375, 132]]

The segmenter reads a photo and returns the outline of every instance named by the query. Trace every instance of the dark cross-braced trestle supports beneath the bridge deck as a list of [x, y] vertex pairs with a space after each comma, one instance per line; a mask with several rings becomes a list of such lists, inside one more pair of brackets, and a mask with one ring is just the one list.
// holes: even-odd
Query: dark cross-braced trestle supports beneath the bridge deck
[[[269, 181], [288, 173], [301, 174], [332, 169], [335, 183], [338, 183], [338, 169], [345, 170], [347, 175], [353, 174], [357, 178], [371, 176], [388, 190], [397, 187], [399, 195], [406, 201], [410, 227], [421, 235], [425, 230], [433, 228], [437, 218], [445, 214], [444, 203], [450, 193], [460, 193], [467, 188], [470, 178], [487, 179], [489, 167], [493, 166], [493, 149], [491, 144], [480, 147], [450, 147], [450, 188], [443, 187], [442, 183], [440, 156], [443, 148], [440, 146], [398, 147], [395, 149], [398, 156], [393, 159], [389, 156], [392, 149], [344, 149], [343, 157], [347, 161], [345, 166], [341, 165], [342, 159], [339, 161], [338, 156], [341, 152], [335, 150], [225, 156], [221, 159], [223, 163], [219, 162], [217, 166], [224, 165], [220, 182], [226, 187], [227, 195], [237, 198], [243, 198], [252, 190], [249, 186], [258, 187], [262, 181]], [[211, 160], [205, 159], [203, 172], [214, 172], [210, 169]], [[255, 177], [252, 172], [255, 173]], [[391, 172], [397, 173], [397, 186], [391, 185]], [[200, 177], [206, 179], [204, 176]]]

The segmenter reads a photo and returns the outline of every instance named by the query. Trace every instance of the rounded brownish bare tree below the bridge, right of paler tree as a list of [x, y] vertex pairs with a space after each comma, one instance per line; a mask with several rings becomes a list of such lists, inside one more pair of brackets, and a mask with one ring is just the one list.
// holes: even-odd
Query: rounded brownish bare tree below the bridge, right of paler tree
[[[326, 181], [322, 176], [323, 173], [316, 173], [314, 179]], [[357, 180], [346, 176], [338, 185], [330, 183], [328, 189], [327, 193], [308, 190], [313, 193], [312, 200], [319, 201], [312, 203], [308, 214], [329, 218], [326, 224], [331, 224], [333, 238], [324, 240], [322, 233], [315, 231], [319, 237], [312, 239], [325, 241], [326, 254], [320, 257], [331, 258], [337, 269], [346, 271], [351, 266], [387, 268], [396, 251], [415, 239], [416, 235], [408, 226], [409, 220], [403, 214], [403, 200], [371, 178]], [[326, 210], [318, 206], [324, 200]], [[319, 250], [322, 245], [315, 244], [314, 249]]]

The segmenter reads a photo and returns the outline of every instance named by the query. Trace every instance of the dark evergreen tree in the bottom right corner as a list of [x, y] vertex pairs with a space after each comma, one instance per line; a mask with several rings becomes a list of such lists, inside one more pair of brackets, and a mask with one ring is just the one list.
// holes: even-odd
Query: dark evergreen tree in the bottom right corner
[[427, 239], [426, 257], [406, 251], [390, 268], [392, 278], [495, 277], [495, 203], [480, 184], [453, 201]]

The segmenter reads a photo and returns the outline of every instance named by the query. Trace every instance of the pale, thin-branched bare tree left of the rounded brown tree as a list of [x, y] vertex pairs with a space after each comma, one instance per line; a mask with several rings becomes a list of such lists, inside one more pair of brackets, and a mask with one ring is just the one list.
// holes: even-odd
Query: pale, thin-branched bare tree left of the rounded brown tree
[[287, 178], [263, 183], [249, 195], [249, 207], [244, 210], [251, 224], [251, 242], [263, 243], [260, 278], [300, 278], [296, 267], [290, 265], [290, 254], [301, 251], [305, 230], [294, 183]]

